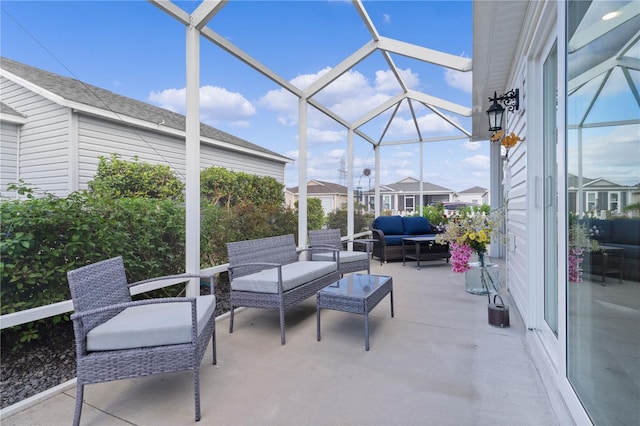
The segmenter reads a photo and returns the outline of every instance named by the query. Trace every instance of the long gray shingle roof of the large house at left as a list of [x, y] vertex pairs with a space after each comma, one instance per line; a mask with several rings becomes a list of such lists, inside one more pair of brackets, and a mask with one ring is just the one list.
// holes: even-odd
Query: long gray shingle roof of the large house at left
[[[0, 58], [0, 67], [66, 100], [144, 120], [149, 123], [163, 123], [163, 125], [167, 127], [181, 131], [185, 130], [185, 116], [182, 114], [135, 99], [127, 98], [108, 90], [84, 83], [80, 80], [63, 77], [8, 58]], [[221, 142], [227, 142], [245, 149], [275, 155], [282, 158], [283, 162], [290, 160], [281, 154], [270, 151], [206, 124], [200, 124], [200, 135]]]

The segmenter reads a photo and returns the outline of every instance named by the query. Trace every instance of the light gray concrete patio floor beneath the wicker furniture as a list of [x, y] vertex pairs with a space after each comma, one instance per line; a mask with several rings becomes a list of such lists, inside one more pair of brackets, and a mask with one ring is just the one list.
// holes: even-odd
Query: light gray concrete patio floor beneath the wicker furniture
[[[500, 262], [499, 262], [500, 263]], [[205, 354], [201, 425], [559, 425], [525, 344], [518, 311], [510, 328], [487, 322], [486, 296], [464, 290], [464, 274], [441, 261], [380, 265], [389, 297], [370, 315], [370, 351], [362, 316], [322, 311], [316, 301], [286, 315], [280, 344], [276, 311], [237, 311], [217, 323], [218, 364]], [[501, 267], [502, 270], [502, 267]], [[504, 278], [503, 278], [504, 280]], [[503, 292], [504, 293], [504, 292]], [[4, 426], [69, 425], [75, 387], [4, 418]], [[179, 372], [88, 385], [82, 425], [192, 425], [193, 379]]]

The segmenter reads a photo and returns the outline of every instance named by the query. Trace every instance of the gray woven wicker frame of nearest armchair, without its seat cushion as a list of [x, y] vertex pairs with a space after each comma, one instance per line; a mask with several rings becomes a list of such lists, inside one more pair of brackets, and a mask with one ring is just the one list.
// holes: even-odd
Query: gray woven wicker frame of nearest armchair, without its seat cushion
[[[195, 418], [200, 420], [200, 363], [209, 339], [216, 363], [215, 315], [208, 318], [204, 329], [197, 332], [196, 298], [172, 297], [132, 301], [129, 289], [149, 281], [200, 277], [174, 275], [128, 284], [122, 257], [104, 260], [67, 273], [73, 298], [73, 329], [76, 344], [77, 390], [73, 419], [80, 424], [84, 385], [181, 370], [193, 371]], [[213, 277], [210, 277], [213, 285]], [[213, 287], [212, 287], [213, 288]], [[191, 304], [191, 342], [166, 346], [109, 351], [87, 351], [87, 333], [128, 307], [142, 304], [189, 302]]]

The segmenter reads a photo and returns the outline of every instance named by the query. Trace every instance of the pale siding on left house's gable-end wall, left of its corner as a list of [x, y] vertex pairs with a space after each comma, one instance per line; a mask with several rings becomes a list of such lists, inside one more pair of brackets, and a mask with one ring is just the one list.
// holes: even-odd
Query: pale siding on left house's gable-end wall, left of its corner
[[28, 118], [20, 132], [19, 177], [38, 191], [68, 192], [69, 112], [2, 79], [2, 101]]

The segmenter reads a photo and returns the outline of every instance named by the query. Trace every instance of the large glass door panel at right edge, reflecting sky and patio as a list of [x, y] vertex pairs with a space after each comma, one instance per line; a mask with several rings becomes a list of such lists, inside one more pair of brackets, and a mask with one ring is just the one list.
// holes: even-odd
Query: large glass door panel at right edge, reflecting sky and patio
[[596, 425], [640, 425], [638, 5], [567, 3], [567, 378]]

